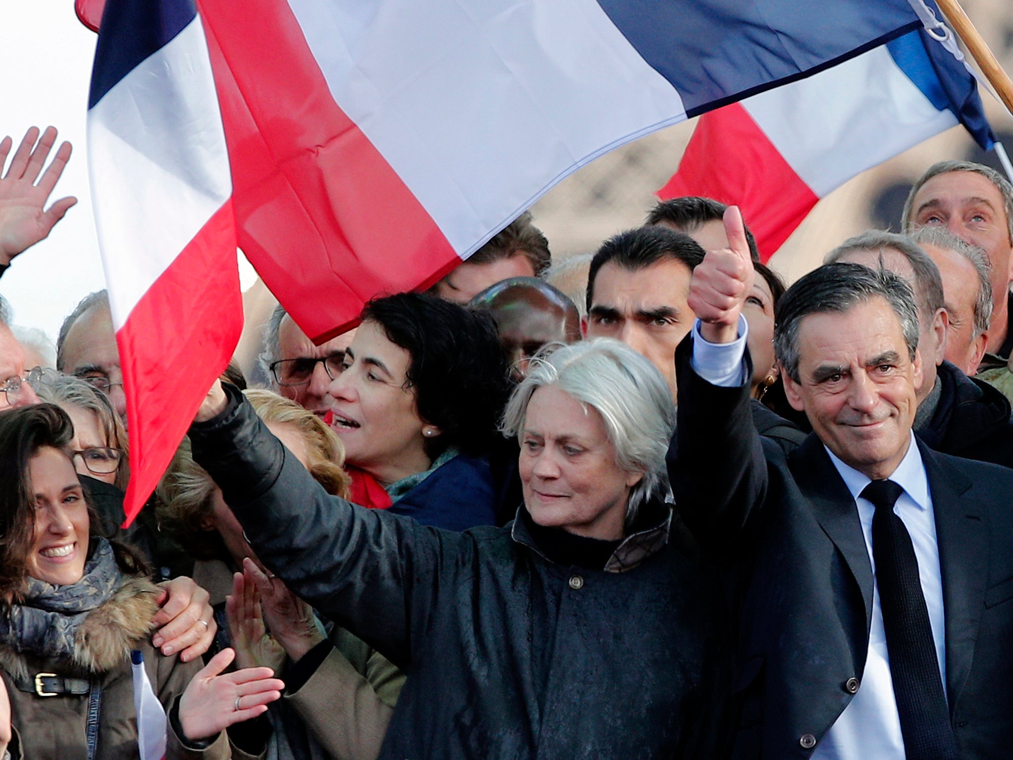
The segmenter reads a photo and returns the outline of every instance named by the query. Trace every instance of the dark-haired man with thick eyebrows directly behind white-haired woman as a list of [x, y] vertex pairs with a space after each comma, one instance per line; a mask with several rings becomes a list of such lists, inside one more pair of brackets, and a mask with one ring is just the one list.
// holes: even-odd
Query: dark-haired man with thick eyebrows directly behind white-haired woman
[[687, 298], [704, 251], [689, 235], [640, 227], [606, 240], [588, 272], [587, 337], [615, 337], [660, 370], [676, 396], [672, 364], [693, 324]]

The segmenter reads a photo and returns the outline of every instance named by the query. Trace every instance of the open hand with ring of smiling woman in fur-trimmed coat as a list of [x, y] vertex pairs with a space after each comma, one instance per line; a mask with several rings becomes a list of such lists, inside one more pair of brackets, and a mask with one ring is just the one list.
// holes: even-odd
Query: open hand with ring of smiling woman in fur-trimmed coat
[[219, 652], [179, 697], [179, 725], [189, 741], [210, 739], [233, 724], [263, 713], [282, 696], [285, 682], [270, 668], [244, 668], [223, 675], [235, 651]]

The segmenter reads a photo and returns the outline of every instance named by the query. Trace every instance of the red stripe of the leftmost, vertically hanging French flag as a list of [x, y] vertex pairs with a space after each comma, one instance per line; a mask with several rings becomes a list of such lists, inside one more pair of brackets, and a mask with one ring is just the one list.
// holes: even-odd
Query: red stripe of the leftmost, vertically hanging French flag
[[[116, 331], [133, 465], [128, 520], [155, 489], [243, 326], [232, 204], [226, 203]], [[140, 466], [139, 466], [140, 465]]]

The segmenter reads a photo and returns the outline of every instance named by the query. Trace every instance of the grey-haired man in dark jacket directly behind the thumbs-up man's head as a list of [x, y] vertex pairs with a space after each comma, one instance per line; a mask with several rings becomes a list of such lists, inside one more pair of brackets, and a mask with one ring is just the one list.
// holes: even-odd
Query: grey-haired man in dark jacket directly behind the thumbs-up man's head
[[945, 359], [949, 314], [939, 268], [929, 254], [905, 235], [872, 230], [845, 240], [826, 261], [881, 268], [911, 285], [923, 365], [914, 428], [922, 440], [945, 454], [1013, 467], [1009, 400]]

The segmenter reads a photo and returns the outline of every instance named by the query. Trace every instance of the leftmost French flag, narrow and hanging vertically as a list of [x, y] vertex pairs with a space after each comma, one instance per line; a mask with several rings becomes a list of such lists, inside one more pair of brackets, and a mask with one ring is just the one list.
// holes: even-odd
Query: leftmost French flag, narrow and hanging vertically
[[106, 2], [88, 169], [127, 391], [130, 521], [242, 329], [229, 156], [191, 0]]

